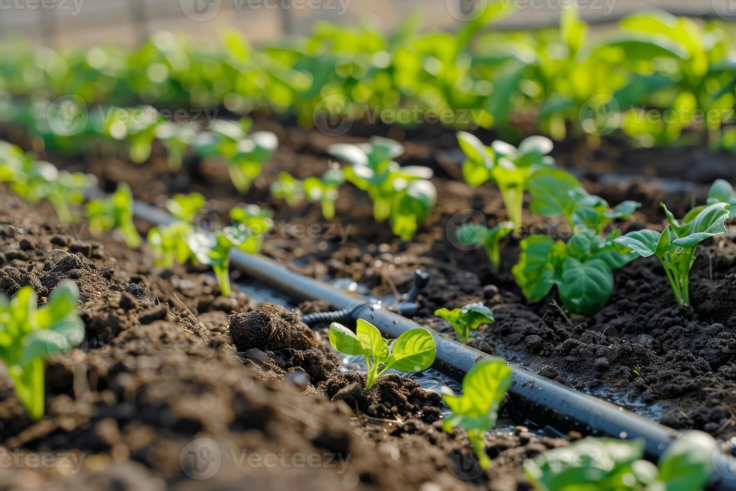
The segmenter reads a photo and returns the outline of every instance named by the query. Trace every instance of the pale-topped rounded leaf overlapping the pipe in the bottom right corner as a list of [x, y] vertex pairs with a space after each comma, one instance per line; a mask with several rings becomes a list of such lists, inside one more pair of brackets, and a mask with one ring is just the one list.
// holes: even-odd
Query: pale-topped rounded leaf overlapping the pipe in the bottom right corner
[[673, 442], [659, 458], [659, 481], [667, 491], [700, 490], [710, 479], [715, 439], [702, 431], [688, 431]]

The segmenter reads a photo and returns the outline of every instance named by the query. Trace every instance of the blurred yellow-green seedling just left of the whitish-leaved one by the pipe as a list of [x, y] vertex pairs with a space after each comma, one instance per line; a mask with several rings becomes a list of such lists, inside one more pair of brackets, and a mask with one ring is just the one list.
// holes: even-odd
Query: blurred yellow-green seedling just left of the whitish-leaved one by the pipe
[[187, 237], [192, 233], [197, 213], [205, 205], [199, 193], [177, 194], [166, 202], [166, 209], [177, 218], [171, 225], [158, 225], [148, 232], [148, 243], [156, 266], [171, 269], [191, 257]]

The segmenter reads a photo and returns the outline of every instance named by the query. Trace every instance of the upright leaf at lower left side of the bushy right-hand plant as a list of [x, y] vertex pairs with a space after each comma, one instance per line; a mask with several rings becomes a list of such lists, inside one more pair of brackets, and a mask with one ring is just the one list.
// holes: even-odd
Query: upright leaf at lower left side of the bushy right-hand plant
[[530, 236], [520, 243], [519, 262], [512, 273], [530, 302], [539, 302], [554, 286], [554, 266], [550, 261], [553, 244], [554, 241], [545, 236]]

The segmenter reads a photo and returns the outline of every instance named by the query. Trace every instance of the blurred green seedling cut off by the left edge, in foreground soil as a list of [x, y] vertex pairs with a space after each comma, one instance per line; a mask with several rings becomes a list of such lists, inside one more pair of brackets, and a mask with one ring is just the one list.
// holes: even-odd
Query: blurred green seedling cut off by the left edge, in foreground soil
[[0, 359], [10, 372], [15, 394], [34, 420], [43, 416], [46, 358], [84, 340], [78, 299], [77, 285], [69, 280], [60, 283], [41, 308], [32, 286], [18, 290], [10, 302], [0, 295]]

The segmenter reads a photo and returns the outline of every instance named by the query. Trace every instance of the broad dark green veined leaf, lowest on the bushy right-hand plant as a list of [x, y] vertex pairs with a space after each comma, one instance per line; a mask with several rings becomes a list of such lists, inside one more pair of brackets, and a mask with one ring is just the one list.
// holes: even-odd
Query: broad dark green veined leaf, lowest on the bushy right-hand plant
[[565, 259], [559, 296], [572, 314], [590, 315], [606, 305], [613, 292], [613, 272], [601, 259], [585, 263]]

